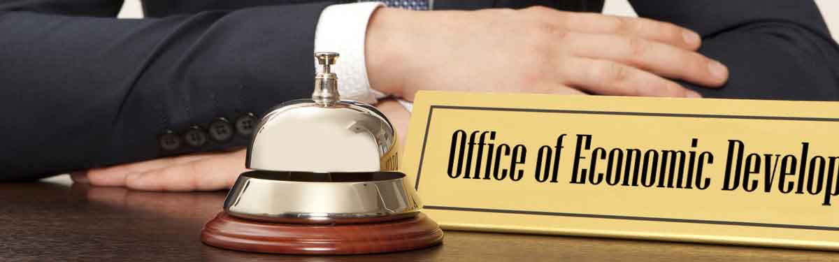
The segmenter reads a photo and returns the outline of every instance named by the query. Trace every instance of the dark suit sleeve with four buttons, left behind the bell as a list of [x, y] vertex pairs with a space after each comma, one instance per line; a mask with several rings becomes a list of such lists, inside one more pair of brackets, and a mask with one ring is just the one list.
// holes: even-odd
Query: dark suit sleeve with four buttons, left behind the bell
[[0, 0], [0, 181], [246, 144], [158, 139], [309, 96], [329, 4], [117, 20], [121, 1]]

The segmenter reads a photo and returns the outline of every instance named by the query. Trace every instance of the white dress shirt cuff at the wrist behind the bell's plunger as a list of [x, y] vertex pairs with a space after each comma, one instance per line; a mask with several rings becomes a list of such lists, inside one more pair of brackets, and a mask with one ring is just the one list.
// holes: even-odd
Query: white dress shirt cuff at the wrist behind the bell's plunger
[[315, 52], [341, 55], [338, 65], [332, 67], [338, 75], [341, 99], [374, 104], [381, 98], [373, 93], [367, 79], [364, 40], [370, 16], [376, 8], [383, 6], [378, 2], [335, 4], [320, 13], [315, 29]]

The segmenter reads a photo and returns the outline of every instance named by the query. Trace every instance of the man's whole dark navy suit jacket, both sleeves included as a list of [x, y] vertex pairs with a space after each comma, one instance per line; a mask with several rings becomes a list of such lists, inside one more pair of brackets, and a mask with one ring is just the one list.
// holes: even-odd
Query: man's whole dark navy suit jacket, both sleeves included
[[[148, 0], [147, 18], [117, 20], [120, 0], [0, 0], [0, 180], [246, 144], [236, 135], [164, 150], [159, 138], [309, 97], [315, 24], [332, 3]], [[436, 0], [435, 8], [599, 11], [602, 3]], [[721, 90], [696, 88], [706, 97], [839, 99], [839, 49], [812, 1], [632, 3], [642, 17], [698, 31], [701, 53], [730, 67]]]

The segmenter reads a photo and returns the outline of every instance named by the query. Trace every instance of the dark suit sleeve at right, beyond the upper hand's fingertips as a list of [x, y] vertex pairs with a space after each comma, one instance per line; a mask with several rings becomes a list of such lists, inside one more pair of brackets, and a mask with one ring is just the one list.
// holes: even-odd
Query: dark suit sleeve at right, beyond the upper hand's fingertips
[[703, 37], [702, 54], [728, 65], [722, 89], [705, 97], [839, 100], [839, 47], [811, 0], [631, 0], [639, 16]]

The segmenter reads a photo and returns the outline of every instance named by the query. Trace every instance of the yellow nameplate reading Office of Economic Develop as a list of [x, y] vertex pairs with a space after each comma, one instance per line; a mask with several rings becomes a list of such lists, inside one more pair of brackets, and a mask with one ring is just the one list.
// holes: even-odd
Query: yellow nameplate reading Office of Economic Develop
[[420, 92], [449, 229], [839, 249], [839, 102]]

